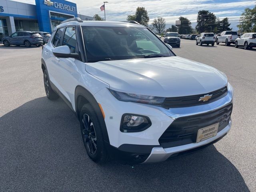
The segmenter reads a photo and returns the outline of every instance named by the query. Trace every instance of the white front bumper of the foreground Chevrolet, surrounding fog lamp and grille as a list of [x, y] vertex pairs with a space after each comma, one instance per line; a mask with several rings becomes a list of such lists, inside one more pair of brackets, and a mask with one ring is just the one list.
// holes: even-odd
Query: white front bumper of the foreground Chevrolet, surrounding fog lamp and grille
[[[200, 106], [165, 109], [159, 106], [122, 102], [114, 98], [107, 88], [94, 94], [97, 102], [101, 104], [105, 114], [105, 123], [109, 137], [109, 148], [112, 157], [121, 157], [133, 163], [159, 162], [174, 156], [177, 153], [199, 148], [224, 136], [231, 126], [220, 130], [214, 138], [199, 143], [183, 144], [175, 147], [163, 148], [159, 138], [166, 129], [180, 117], [204, 114], [222, 108], [232, 103], [233, 88], [228, 84], [228, 94], [223, 98]], [[142, 132], [125, 133], [120, 131], [120, 121], [123, 114], [138, 114], [150, 118], [152, 125]], [[136, 156], [139, 158], [136, 159]], [[120, 159], [120, 158], [118, 158]]]

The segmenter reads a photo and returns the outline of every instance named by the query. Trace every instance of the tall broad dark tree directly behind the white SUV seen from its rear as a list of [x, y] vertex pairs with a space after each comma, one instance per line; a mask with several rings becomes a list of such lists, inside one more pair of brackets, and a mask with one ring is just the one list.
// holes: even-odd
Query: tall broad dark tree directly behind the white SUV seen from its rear
[[216, 27], [216, 16], [208, 10], [200, 10], [197, 15], [196, 30], [198, 33], [211, 32]]

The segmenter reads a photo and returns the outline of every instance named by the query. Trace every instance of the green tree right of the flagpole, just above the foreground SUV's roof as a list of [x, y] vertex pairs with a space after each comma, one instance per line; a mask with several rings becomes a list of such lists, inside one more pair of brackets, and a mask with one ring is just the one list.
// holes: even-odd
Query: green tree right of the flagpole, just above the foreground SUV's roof
[[128, 21], [133, 20], [138, 22], [139, 24], [148, 26], [148, 22], [149, 22], [148, 12], [144, 7], [137, 7], [135, 14], [128, 15], [127, 20]]

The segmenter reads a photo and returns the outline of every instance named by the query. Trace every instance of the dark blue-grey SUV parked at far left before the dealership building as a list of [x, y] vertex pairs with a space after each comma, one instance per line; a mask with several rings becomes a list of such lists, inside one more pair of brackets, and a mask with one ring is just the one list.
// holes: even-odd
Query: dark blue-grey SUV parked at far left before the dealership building
[[40, 46], [43, 43], [43, 38], [38, 33], [33, 34], [31, 31], [19, 31], [10, 36], [3, 37], [2, 41], [6, 47], [10, 45], [31, 47], [32, 45]]

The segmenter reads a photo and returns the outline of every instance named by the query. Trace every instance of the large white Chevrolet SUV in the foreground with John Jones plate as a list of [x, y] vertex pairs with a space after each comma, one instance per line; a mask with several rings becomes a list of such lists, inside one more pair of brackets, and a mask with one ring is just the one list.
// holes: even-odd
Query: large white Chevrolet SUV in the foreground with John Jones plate
[[152, 31], [66, 20], [42, 50], [44, 87], [80, 121], [88, 156], [159, 162], [223, 138], [233, 88], [224, 73], [176, 56]]

